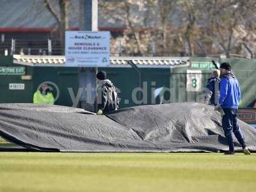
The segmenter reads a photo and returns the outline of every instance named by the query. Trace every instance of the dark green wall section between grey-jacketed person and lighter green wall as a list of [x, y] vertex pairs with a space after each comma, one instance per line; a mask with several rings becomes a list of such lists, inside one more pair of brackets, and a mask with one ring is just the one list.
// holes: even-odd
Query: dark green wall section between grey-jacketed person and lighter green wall
[[[140, 97], [140, 93], [137, 93], [136, 96], [133, 94], [137, 99], [132, 99], [132, 92], [136, 92], [136, 88], [140, 87], [138, 72], [133, 68], [99, 68], [98, 70], [105, 70], [108, 78], [120, 89], [122, 108], [139, 104], [159, 104], [159, 97], [154, 100], [152, 92], [155, 88], [170, 86], [169, 68], [141, 68], [142, 81], [145, 85], [143, 98]], [[164, 98], [168, 100], [170, 94], [166, 92]]]

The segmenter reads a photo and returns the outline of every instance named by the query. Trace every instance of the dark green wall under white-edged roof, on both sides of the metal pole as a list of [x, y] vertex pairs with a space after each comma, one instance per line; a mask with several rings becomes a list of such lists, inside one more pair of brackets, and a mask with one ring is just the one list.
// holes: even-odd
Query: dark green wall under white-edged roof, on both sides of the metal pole
[[[120, 90], [120, 93], [118, 94], [121, 99], [120, 108], [127, 108], [129, 106], [136, 106], [139, 104], [159, 104], [159, 97], [154, 101], [154, 97], [152, 95], [154, 88], [170, 86], [169, 69], [143, 68], [143, 82], [146, 84], [147, 88], [145, 88], [145, 94], [143, 95], [144, 99], [140, 99], [140, 95], [138, 93], [136, 95], [138, 102], [136, 102], [136, 99], [132, 99], [132, 91], [140, 85], [138, 73], [133, 68], [98, 68], [98, 71], [99, 70], [105, 70], [108, 74], [108, 79], [110, 79], [113, 84], [115, 84], [116, 88]], [[51, 81], [60, 89], [60, 97], [56, 101], [56, 104], [72, 106], [72, 99], [70, 92], [68, 92], [68, 88], [72, 88], [74, 95], [77, 95], [77, 76], [78, 68], [33, 67], [33, 92], [36, 91], [39, 84], [45, 81]], [[55, 88], [53, 89], [53, 93], [56, 96]], [[164, 97], [168, 100], [170, 97], [168, 92], [164, 94]]]

